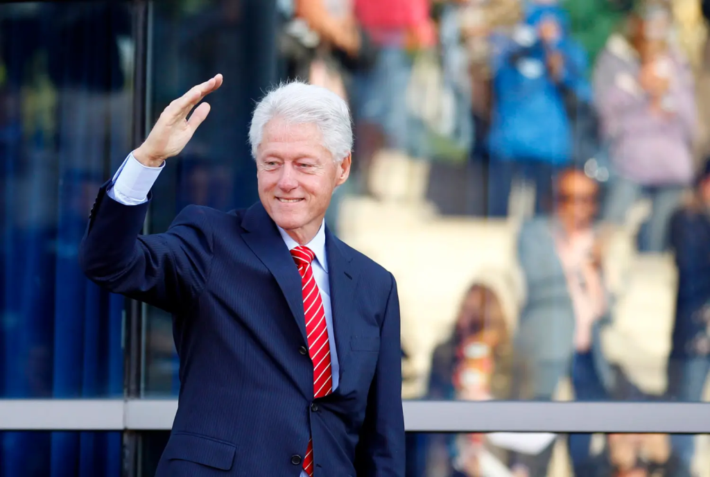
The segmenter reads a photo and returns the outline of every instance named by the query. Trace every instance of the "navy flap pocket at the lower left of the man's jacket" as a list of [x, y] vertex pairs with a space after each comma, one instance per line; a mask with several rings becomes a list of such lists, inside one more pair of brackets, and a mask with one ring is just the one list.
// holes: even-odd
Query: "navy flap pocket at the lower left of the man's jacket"
[[163, 451], [168, 461], [190, 461], [222, 471], [229, 471], [234, 464], [236, 446], [207, 436], [175, 432], [170, 435]]

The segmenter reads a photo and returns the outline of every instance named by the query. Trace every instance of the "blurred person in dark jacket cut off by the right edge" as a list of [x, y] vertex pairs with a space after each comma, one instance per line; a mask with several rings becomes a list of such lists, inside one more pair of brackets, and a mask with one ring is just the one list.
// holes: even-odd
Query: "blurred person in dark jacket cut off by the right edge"
[[[672, 216], [670, 242], [678, 269], [678, 292], [668, 394], [698, 402], [710, 371], [710, 161], [699, 172], [695, 193]], [[690, 467], [694, 436], [678, 434], [674, 447]]]

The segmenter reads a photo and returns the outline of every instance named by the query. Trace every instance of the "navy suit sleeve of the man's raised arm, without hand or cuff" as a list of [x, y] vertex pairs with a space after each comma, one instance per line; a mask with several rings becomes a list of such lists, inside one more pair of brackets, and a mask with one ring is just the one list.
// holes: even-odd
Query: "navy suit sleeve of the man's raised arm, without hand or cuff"
[[79, 261], [97, 285], [172, 313], [190, 307], [207, 282], [212, 232], [205, 209], [188, 206], [164, 234], [139, 235], [149, 202], [121, 204], [108, 197], [104, 185]]

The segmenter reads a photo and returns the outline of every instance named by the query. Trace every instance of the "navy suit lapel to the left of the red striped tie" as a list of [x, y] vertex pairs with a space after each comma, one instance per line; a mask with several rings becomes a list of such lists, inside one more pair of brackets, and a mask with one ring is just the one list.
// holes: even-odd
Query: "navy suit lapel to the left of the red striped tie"
[[303, 344], [307, 346], [301, 277], [288, 247], [261, 203], [254, 204], [246, 211], [241, 225], [250, 232], [242, 235], [246, 245], [276, 279], [301, 331]]

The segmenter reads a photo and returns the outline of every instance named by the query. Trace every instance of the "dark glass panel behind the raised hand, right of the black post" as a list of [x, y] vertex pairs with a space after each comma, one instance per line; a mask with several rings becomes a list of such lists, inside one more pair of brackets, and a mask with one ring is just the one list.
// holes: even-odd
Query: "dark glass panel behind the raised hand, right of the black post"
[[[228, 211], [258, 199], [246, 138], [253, 102], [275, 79], [274, 8], [261, 0], [155, 1], [150, 125], [194, 84], [218, 72], [224, 84], [209, 97], [208, 119], [153, 187], [151, 232], [168, 229], [187, 204]], [[145, 395], [176, 395], [170, 316], [153, 307], [146, 316]]]

